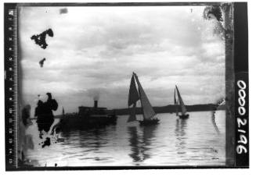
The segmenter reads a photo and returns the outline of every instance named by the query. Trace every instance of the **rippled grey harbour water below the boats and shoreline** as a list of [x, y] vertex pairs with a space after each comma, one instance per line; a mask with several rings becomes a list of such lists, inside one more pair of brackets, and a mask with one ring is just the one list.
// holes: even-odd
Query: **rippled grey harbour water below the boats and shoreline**
[[215, 114], [219, 133], [212, 112], [189, 112], [189, 119], [169, 113], [157, 118], [159, 125], [143, 127], [120, 115], [115, 126], [62, 132], [62, 142], [44, 148], [38, 145], [34, 122], [27, 130], [34, 140], [27, 158], [35, 166], [225, 165], [225, 111]]

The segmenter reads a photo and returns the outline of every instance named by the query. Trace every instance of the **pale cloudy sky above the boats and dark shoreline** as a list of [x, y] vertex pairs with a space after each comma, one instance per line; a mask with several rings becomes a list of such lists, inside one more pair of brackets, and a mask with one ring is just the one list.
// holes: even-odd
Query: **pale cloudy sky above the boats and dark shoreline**
[[[127, 108], [132, 72], [153, 106], [173, 104], [175, 84], [185, 104], [225, 95], [225, 43], [204, 6], [20, 7], [23, 104], [51, 92], [66, 112], [92, 105]], [[49, 46], [31, 36], [52, 28]], [[46, 58], [40, 68], [38, 62]]]

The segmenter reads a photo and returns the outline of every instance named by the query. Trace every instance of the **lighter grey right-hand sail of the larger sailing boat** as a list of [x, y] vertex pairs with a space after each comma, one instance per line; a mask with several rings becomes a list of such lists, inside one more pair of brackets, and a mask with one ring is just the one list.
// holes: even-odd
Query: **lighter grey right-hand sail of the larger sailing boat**
[[138, 84], [139, 87], [139, 97], [140, 97], [140, 101], [142, 104], [142, 112], [143, 112], [143, 118], [144, 119], [151, 119], [153, 118], [154, 115], [156, 115], [156, 113], [153, 111], [153, 108], [150, 104], [149, 99], [146, 97], [146, 93], [144, 92], [142, 85], [139, 83], [139, 79], [138, 76], [133, 73], [135, 76], [135, 80]]

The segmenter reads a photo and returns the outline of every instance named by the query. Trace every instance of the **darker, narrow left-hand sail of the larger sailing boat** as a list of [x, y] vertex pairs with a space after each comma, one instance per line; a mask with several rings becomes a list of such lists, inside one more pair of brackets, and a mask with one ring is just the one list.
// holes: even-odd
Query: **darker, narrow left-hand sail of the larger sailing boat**
[[128, 96], [128, 107], [132, 105], [129, 109], [129, 118], [127, 122], [132, 122], [136, 120], [136, 102], [139, 100], [139, 93], [137, 91], [134, 76], [132, 76], [129, 96]]

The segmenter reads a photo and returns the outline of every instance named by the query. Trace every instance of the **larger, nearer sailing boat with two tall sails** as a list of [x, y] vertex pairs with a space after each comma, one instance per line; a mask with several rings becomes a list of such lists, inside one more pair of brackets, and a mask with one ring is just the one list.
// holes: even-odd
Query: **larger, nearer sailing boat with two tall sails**
[[[137, 90], [135, 83], [137, 83], [139, 91]], [[149, 125], [157, 124], [159, 122], [159, 119], [154, 117], [156, 113], [153, 111], [150, 101], [146, 96], [146, 93], [143, 90], [142, 85], [139, 82], [138, 76], [135, 73], [132, 73], [132, 80], [131, 80], [129, 97], [128, 97], [128, 107], [132, 105], [132, 110], [130, 110], [130, 116], [129, 116], [128, 122], [136, 120], [136, 112], [135, 112], [136, 102], [139, 100], [141, 102], [142, 115], [143, 115], [143, 120], [139, 121], [139, 124], [141, 126], [149, 126]]]

